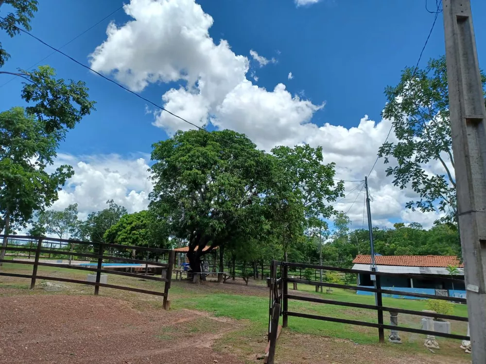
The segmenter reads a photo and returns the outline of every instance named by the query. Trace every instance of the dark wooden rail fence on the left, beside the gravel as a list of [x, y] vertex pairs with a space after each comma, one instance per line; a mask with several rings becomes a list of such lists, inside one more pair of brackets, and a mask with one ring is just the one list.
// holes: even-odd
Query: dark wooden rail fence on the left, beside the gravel
[[[61, 282], [92, 285], [95, 287], [94, 288], [95, 295], [98, 295], [100, 287], [146, 293], [150, 295], [163, 297], [164, 309], [167, 310], [170, 307], [169, 289], [171, 288], [172, 269], [174, 266], [173, 250], [148, 248], [148, 247], [135, 247], [135, 246], [126, 246], [126, 245], [118, 245], [118, 244], [107, 244], [107, 243], [93, 243], [93, 242], [86, 242], [86, 241], [79, 241], [79, 240], [65, 240], [65, 239], [47, 238], [47, 237], [36, 238], [32, 236], [9, 235], [7, 238], [12, 242], [15, 242], [15, 244], [10, 243], [7, 245], [6, 248], [0, 246], [0, 251], [6, 250], [6, 252], [10, 252], [10, 254], [6, 254], [5, 257], [9, 259], [0, 259], [0, 262], [33, 265], [33, 269], [32, 269], [32, 274], [18, 274], [18, 273], [4, 271], [2, 269], [2, 271], [0, 272], [0, 276], [29, 278], [31, 279], [31, 286], [30, 286], [31, 289], [34, 289], [36, 280], [41, 279], [41, 280], [49, 280], [49, 281], [61, 281]], [[0, 235], [0, 240], [1, 239], [3, 239], [3, 235]], [[51, 247], [54, 246], [55, 248], [49, 248], [49, 245], [51, 245]], [[82, 250], [82, 251], [76, 251], [76, 250]], [[146, 256], [148, 256], [149, 253], [152, 253], [157, 256], [167, 255], [168, 260], [167, 263], [162, 263], [158, 261], [149, 261], [148, 259], [136, 259], [132, 257], [132, 255], [134, 255], [134, 253], [136, 254], [136, 252], [142, 252], [143, 254], [146, 254]], [[30, 259], [31, 254], [34, 256], [34, 260]], [[48, 257], [42, 256], [42, 254], [49, 254], [49, 256]], [[68, 257], [69, 262], [64, 263], [62, 260], [61, 262], [59, 262], [58, 259], [56, 261], [56, 258], [49, 259], [51, 255], [53, 257]], [[72, 257], [89, 258], [93, 263], [96, 263], [96, 268], [88, 267], [86, 266], [86, 264], [84, 265], [71, 264]], [[23, 260], [21, 260], [22, 258]], [[47, 258], [47, 259], [43, 259], [43, 261], [40, 261], [41, 258]], [[133, 271], [127, 272], [127, 271], [119, 271], [113, 269], [105, 269], [106, 267], [105, 268], [103, 267], [104, 263], [109, 263], [109, 262], [116, 262], [116, 263], [123, 262], [124, 264], [132, 263], [133, 265], [136, 264], [140, 265], [141, 269], [139, 271], [140, 273], [144, 273], [143, 279], [163, 282], [164, 291], [157, 292], [157, 291], [150, 291], [146, 289], [140, 289], [140, 288], [134, 288], [128, 286], [101, 283], [100, 280], [101, 280], [102, 273], [121, 275], [125, 277], [136, 277], [136, 278], [140, 278], [141, 276], [140, 273], [134, 273]], [[49, 266], [49, 267], [68, 268], [68, 269], [75, 269], [75, 270], [84, 270], [87, 272], [96, 273], [96, 279], [95, 281], [82, 281], [82, 280], [75, 280], [69, 278], [43, 276], [37, 274], [38, 266]], [[148, 275], [149, 266], [156, 267], [156, 268], [161, 267], [162, 273], [160, 274], [160, 276]]]

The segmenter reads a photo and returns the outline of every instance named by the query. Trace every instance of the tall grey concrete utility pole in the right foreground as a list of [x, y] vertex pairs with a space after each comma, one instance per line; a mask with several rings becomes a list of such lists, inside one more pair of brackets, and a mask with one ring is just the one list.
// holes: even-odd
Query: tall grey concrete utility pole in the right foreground
[[486, 363], [486, 110], [469, 0], [444, 0], [452, 150], [472, 362]]

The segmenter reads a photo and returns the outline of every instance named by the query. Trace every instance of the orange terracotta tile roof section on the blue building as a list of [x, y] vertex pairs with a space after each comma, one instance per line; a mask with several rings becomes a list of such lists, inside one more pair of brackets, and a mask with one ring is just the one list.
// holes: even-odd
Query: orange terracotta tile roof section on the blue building
[[[354, 264], [371, 264], [371, 255], [357, 255], [353, 260]], [[446, 267], [459, 264], [459, 259], [455, 255], [376, 255], [377, 265], [401, 265], [401, 266], [434, 266]]]

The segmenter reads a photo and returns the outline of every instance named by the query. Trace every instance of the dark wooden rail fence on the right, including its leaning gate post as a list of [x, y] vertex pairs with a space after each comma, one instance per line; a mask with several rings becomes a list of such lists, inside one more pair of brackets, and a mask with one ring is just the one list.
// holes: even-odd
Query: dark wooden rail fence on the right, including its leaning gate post
[[[304, 280], [300, 278], [292, 278], [289, 275], [290, 267], [303, 268], [303, 269], [310, 268], [310, 269], [323, 270], [323, 271], [335, 271], [335, 272], [353, 274], [353, 275], [373, 274], [376, 279], [375, 281], [376, 284], [375, 287], [363, 287], [357, 285], [337, 284], [337, 283]], [[280, 274], [278, 274], [278, 270]], [[402, 292], [398, 290], [395, 291], [395, 290], [382, 289], [381, 278], [383, 276], [393, 276], [393, 277], [401, 277], [401, 278], [409, 278], [409, 279], [410, 278], [414, 278], [414, 279], [440, 278], [442, 281], [452, 281], [452, 282], [462, 282], [462, 283], [464, 282], [463, 280], [446, 278], [441, 275], [432, 275], [432, 274], [428, 274], [427, 276], [422, 276], [417, 274], [405, 274], [405, 273], [370, 272], [365, 270], [354, 270], [354, 269], [347, 269], [347, 268], [337, 268], [337, 267], [329, 267], [329, 266], [290, 263], [290, 262], [277, 262], [277, 261], [272, 262], [272, 271], [273, 271], [273, 275], [270, 281], [270, 300], [269, 300], [269, 317], [268, 317], [269, 352], [267, 356], [268, 359], [267, 363], [269, 364], [274, 363], [273, 358], [275, 355], [275, 347], [276, 347], [276, 341], [278, 337], [278, 319], [279, 319], [278, 316], [279, 315], [282, 316], [283, 328], [288, 326], [289, 317], [303, 317], [303, 318], [309, 318], [314, 320], [338, 322], [343, 324], [351, 324], [351, 325], [376, 328], [378, 329], [378, 336], [379, 336], [380, 343], [384, 342], [384, 330], [405, 331], [405, 332], [434, 335], [434, 336], [440, 336], [440, 337], [446, 337], [446, 338], [458, 339], [458, 340], [470, 340], [469, 336], [466, 335], [457, 335], [457, 334], [443, 333], [437, 331], [421, 330], [421, 329], [415, 329], [415, 328], [410, 328], [405, 326], [386, 325], [383, 323], [383, 312], [397, 313], [397, 314], [398, 313], [412, 314], [412, 315], [419, 315], [419, 316], [426, 315], [428, 317], [456, 320], [456, 321], [463, 321], [463, 322], [469, 321], [468, 317], [454, 316], [449, 314], [438, 314], [438, 313], [431, 313], [431, 312], [427, 312], [427, 314], [425, 314], [422, 311], [406, 310], [401, 308], [383, 306], [382, 294], [410, 296], [410, 297], [417, 297], [417, 298], [441, 299], [441, 300], [446, 300], [446, 301], [451, 301], [456, 303], [464, 303], [464, 304], [467, 303], [466, 298], [448, 297], [448, 296], [440, 296], [440, 295], [436, 296], [436, 295], [428, 295], [428, 294], [415, 293], [415, 292]], [[278, 275], [280, 277], [278, 277]], [[324, 286], [330, 288], [342, 288], [342, 289], [353, 290], [353, 291], [373, 292], [376, 295], [376, 305], [361, 304], [355, 302], [343, 302], [343, 301], [317, 298], [317, 297], [304, 297], [304, 296], [292, 295], [289, 294], [288, 283], [303, 283], [303, 284], [314, 285], [317, 287]], [[306, 302], [322, 303], [328, 305], [337, 305], [337, 306], [361, 308], [366, 310], [374, 310], [377, 312], [377, 323], [289, 311], [288, 308], [289, 300], [306, 301]]]

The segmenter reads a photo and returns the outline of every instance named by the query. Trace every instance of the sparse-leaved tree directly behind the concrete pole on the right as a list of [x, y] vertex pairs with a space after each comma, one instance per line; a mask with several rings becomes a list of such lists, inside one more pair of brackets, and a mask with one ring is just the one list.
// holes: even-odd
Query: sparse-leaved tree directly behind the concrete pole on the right
[[[406, 67], [399, 84], [386, 87], [382, 116], [392, 120], [398, 141], [384, 143], [379, 156], [393, 164], [386, 169], [393, 183], [418, 195], [408, 208], [438, 210], [453, 221], [456, 191], [446, 70], [444, 56], [431, 59], [424, 69]], [[484, 87], [486, 77], [481, 77]], [[432, 173], [434, 164], [442, 171]]]

